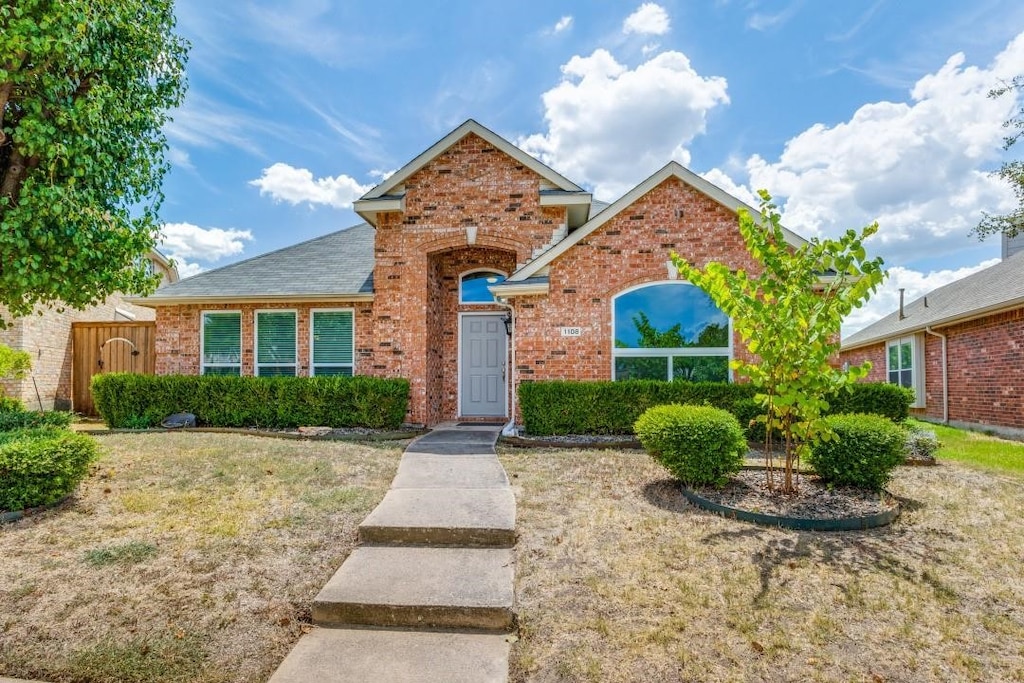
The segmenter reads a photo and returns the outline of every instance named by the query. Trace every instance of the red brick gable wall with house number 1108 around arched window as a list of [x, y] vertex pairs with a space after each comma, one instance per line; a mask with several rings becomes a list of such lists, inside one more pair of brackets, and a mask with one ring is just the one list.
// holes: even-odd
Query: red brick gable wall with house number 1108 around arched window
[[[556, 259], [546, 298], [515, 302], [518, 377], [611, 379], [612, 298], [636, 285], [669, 280], [672, 251], [697, 266], [721, 261], [757, 269], [735, 214], [670, 178]], [[561, 337], [561, 327], [581, 327], [583, 336]], [[737, 339], [733, 346], [745, 352]]]

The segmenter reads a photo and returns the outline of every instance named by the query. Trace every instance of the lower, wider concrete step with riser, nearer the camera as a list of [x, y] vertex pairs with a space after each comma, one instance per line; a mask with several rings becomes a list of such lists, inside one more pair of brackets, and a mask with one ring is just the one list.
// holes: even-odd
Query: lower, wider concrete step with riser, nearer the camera
[[313, 623], [508, 630], [513, 562], [504, 548], [362, 546], [313, 600]]

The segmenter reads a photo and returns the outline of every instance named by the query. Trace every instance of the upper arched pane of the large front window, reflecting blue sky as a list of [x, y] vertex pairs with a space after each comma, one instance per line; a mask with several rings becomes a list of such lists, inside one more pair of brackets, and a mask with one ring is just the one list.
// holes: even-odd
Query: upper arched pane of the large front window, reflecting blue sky
[[615, 298], [616, 348], [729, 346], [729, 318], [690, 285], [653, 285]]

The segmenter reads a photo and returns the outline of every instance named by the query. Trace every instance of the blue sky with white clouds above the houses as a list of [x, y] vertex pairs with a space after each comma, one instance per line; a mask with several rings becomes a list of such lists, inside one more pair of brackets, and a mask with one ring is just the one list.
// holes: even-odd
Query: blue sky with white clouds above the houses
[[968, 232], [1024, 71], [1019, 0], [381, 5], [178, 0], [163, 249], [184, 274], [359, 222], [351, 202], [473, 118], [613, 200], [670, 160], [805, 237], [880, 220], [892, 276], [847, 333], [990, 264]]

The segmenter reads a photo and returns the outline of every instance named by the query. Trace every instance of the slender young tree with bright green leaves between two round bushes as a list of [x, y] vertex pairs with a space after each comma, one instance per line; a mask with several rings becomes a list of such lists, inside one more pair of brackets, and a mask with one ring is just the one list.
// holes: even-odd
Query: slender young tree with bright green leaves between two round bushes
[[[781, 434], [785, 461], [781, 489], [797, 487], [800, 459], [831, 434], [821, 419], [828, 408], [823, 398], [864, 377], [870, 364], [841, 370], [831, 365], [839, 351], [843, 318], [859, 308], [885, 280], [882, 259], [868, 259], [863, 241], [878, 223], [858, 234], [847, 230], [839, 240], [812, 240], [794, 248], [786, 244], [771, 196], [760, 190], [761, 215], [740, 209], [739, 232], [761, 272], [731, 270], [722, 263], [697, 268], [672, 254], [679, 274], [711, 296], [732, 317], [755, 357], [732, 360], [733, 370], [758, 387], [765, 410], [766, 451], [772, 435]], [[824, 276], [823, 276], [824, 275]], [[769, 457], [768, 486], [775, 489]]]

